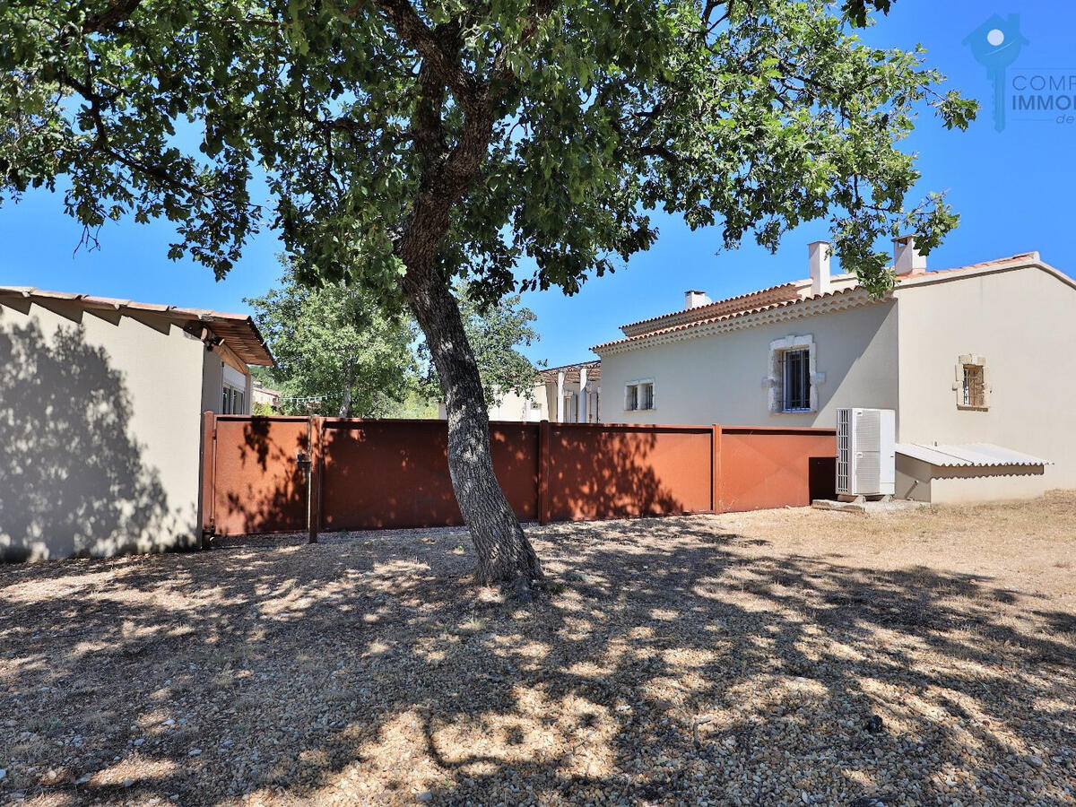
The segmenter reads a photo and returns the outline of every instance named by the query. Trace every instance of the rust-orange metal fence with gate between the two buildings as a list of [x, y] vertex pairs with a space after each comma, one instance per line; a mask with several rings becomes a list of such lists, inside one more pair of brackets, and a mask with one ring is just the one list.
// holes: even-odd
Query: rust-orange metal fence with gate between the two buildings
[[[206, 535], [463, 523], [443, 421], [203, 419]], [[543, 421], [495, 422], [490, 437], [524, 521], [803, 506], [834, 487], [833, 429]]]

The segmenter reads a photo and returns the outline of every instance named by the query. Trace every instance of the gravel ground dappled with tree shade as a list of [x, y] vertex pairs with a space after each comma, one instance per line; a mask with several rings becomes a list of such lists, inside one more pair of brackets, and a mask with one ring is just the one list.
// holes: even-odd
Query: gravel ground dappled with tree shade
[[0, 803], [1076, 804], [1076, 494], [528, 533], [0, 568]]

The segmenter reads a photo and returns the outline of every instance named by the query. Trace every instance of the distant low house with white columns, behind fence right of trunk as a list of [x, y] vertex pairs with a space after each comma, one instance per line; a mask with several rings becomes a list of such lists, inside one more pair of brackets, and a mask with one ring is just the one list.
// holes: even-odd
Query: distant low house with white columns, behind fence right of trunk
[[[508, 392], [490, 405], [491, 421], [599, 423], [601, 363], [582, 362], [538, 370], [526, 394]], [[496, 393], [496, 391], [495, 391]], [[445, 419], [444, 402], [438, 417]]]

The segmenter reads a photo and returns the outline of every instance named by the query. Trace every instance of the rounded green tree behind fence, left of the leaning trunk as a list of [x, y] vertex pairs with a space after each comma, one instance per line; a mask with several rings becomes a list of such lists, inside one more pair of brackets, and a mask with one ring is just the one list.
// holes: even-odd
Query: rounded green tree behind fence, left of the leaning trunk
[[417, 374], [414, 326], [386, 315], [370, 295], [343, 282], [311, 287], [285, 263], [281, 285], [246, 300], [277, 359], [271, 369], [286, 412], [310, 411], [293, 398], [321, 398], [312, 410], [338, 417], [392, 414]]

